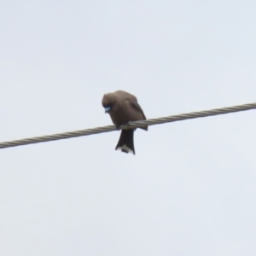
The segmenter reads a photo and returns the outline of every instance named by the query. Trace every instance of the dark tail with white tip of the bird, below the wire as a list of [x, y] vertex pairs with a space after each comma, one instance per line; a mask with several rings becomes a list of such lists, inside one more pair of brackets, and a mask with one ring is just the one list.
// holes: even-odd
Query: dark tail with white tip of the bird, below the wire
[[133, 132], [134, 129], [122, 130], [115, 150], [120, 149], [122, 152], [135, 154]]

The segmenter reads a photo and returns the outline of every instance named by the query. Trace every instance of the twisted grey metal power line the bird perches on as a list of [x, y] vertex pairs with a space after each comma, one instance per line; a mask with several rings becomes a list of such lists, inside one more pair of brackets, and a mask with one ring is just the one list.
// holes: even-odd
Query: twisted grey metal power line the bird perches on
[[[176, 121], [181, 121], [186, 119], [196, 119], [196, 118], [202, 118], [202, 117], [224, 114], [224, 113], [246, 111], [254, 108], [256, 108], [256, 102], [251, 104], [228, 107], [228, 108], [215, 108], [215, 109], [199, 111], [199, 112], [181, 113], [181, 114], [167, 116], [167, 117], [158, 118], [158, 119], [147, 119], [142, 121], [130, 122], [129, 125], [122, 125], [119, 127], [119, 129], [121, 130], [131, 129], [134, 127], [140, 127], [145, 125], [160, 125], [164, 123], [176, 122]], [[97, 134], [102, 132], [108, 132], [108, 131], [116, 131], [116, 127], [114, 125], [108, 125], [108, 126], [97, 127], [92, 129], [69, 131], [69, 132], [47, 135], [42, 137], [25, 138], [21, 140], [6, 142], [6, 143], [0, 143], [0, 148], [17, 147], [17, 146], [27, 145], [32, 143], [46, 143], [50, 141], [67, 139], [71, 137], [87, 136], [87, 135], [92, 135], [92, 134]]]

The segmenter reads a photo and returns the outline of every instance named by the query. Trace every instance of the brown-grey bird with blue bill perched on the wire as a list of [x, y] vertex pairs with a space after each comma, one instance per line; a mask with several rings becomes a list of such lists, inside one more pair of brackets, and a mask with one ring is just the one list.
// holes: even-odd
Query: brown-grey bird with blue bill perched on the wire
[[[137, 97], [124, 90], [105, 94], [102, 98], [102, 106], [105, 108], [105, 113], [109, 113], [113, 124], [117, 128], [120, 125], [129, 124], [130, 121], [146, 119], [143, 109], [137, 102]], [[140, 128], [148, 131], [148, 126]], [[135, 130], [122, 130], [115, 150], [120, 149], [122, 152], [135, 154], [133, 143], [133, 132]]]

